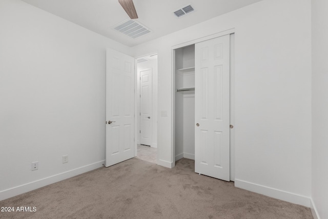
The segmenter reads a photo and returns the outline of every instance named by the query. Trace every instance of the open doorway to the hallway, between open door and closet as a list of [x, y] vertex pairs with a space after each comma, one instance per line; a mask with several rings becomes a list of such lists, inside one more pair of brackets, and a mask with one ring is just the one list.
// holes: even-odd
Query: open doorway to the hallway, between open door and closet
[[157, 163], [157, 54], [137, 61], [137, 157]]

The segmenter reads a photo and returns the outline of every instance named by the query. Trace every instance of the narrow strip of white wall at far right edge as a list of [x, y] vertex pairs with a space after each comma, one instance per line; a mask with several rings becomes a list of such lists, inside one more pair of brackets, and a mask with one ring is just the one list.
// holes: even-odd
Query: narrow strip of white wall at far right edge
[[312, 1], [312, 199], [328, 218], [328, 2]]

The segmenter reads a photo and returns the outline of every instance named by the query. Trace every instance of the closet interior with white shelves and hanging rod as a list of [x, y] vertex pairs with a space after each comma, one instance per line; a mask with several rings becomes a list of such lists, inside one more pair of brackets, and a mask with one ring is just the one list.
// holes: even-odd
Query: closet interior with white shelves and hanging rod
[[[188, 91], [178, 89], [190, 88]], [[175, 50], [175, 160], [195, 160], [195, 45]]]

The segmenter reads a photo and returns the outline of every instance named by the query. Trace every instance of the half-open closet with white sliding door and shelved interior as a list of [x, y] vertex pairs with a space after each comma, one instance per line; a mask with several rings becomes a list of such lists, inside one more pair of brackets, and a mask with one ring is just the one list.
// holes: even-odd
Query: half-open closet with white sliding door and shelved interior
[[174, 152], [230, 181], [230, 34], [173, 50]]

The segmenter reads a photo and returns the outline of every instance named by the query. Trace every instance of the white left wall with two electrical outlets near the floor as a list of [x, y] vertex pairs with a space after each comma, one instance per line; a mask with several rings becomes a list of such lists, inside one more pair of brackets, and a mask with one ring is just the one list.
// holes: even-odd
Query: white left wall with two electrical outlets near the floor
[[0, 200], [101, 167], [106, 47], [130, 53], [19, 0], [0, 1]]

